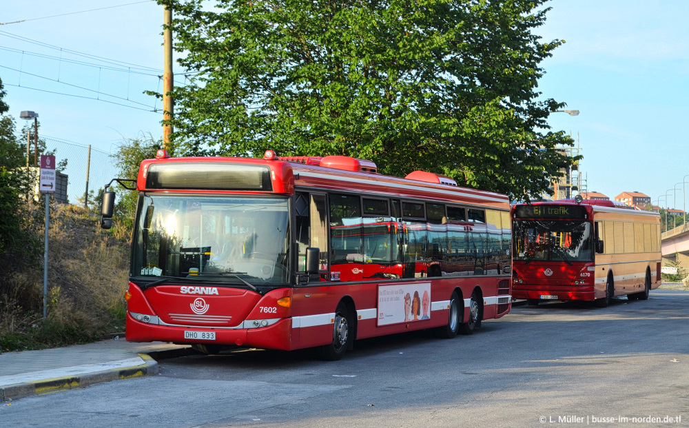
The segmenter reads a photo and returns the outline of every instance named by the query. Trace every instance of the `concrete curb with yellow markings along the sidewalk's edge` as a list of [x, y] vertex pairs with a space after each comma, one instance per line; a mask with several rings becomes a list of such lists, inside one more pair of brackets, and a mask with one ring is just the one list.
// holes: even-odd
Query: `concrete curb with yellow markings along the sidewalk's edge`
[[[176, 350], [174, 349], [174, 351]], [[158, 352], [158, 354], [163, 354], [163, 352]], [[67, 391], [68, 389], [88, 387], [96, 383], [110, 382], [111, 380], [152, 376], [158, 373], [158, 362], [156, 360], [147, 354], [138, 354], [138, 356], [144, 360], [142, 365], [94, 371], [93, 373], [85, 373], [78, 376], [35, 380], [33, 382], [16, 383], [0, 387], [0, 401], [15, 400], [28, 396], [41, 396]]]

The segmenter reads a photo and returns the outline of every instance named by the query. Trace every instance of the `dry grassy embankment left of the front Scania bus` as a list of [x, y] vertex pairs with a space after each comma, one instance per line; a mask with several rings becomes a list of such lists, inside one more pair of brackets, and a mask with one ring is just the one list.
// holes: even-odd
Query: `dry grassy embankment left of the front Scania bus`
[[[34, 223], [44, 221], [34, 216]], [[43, 318], [43, 245], [33, 261], [17, 261], [0, 289], [0, 352], [83, 343], [124, 330], [130, 231], [99, 228], [99, 216], [51, 205], [48, 317]], [[32, 225], [40, 235], [43, 225]]]

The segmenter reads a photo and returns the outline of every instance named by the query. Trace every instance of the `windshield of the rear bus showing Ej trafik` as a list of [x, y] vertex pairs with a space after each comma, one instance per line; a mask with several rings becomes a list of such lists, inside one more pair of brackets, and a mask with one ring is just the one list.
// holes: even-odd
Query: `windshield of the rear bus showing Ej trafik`
[[526, 220], [513, 223], [515, 261], [593, 261], [593, 234], [588, 221]]

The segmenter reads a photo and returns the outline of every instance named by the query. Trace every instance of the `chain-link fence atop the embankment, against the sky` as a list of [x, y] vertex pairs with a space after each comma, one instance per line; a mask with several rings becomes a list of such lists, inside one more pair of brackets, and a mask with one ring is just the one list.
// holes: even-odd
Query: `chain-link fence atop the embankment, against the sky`
[[[66, 176], [62, 181], [67, 186], [66, 192], [63, 192], [63, 194], [66, 193], [67, 200], [61, 200], [63, 203], [85, 206], [87, 192], [97, 195], [117, 176], [117, 168], [114, 166], [114, 159], [110, 153], [90, 145], [70, 143], [50, 137], [41, 137], [41, 140], [45, 141], [46, 151], [54, 151], [58, 170], [61, 163], [67, 161], [67, 165], [61, 169], [61, 173]], [[31, 165], [33, 161], [33, 153], [31, 153]], [[89, 205], [93, 202], [91, 196], [88, 196]]]

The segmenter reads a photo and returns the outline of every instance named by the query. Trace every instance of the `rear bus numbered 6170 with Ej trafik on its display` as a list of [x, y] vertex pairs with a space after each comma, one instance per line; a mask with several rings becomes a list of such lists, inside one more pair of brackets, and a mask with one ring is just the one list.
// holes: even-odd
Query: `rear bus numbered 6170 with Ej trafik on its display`
[[660, 216], [613, 201], [512, 207], [513, 296], [529, 305], [613, 297], [646, 300], [661, 283]]

